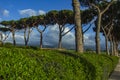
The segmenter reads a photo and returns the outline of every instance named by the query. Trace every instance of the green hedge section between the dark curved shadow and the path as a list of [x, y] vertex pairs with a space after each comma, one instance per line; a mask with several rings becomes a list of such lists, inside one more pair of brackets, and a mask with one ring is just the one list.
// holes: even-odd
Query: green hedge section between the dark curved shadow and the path
[[83, 54], [91, 64], [94, 65], [96, 69], [96, 79], [95, 80], [108, 80], [109, 75], [114, 70], [116, 64], [118, 63], [118, 57], [108, 56], [108, 55], [96, 55], [96, 54]]

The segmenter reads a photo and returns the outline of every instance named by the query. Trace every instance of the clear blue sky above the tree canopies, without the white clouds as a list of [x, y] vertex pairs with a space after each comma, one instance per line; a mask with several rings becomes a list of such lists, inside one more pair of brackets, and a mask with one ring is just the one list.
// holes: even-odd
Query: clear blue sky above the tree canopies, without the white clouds
[[19, 19], [23, 17], [19, 14], [20, 10], [32, 9], [35, 11], [72, 9], [71, 0], [0, 0], [0, 12], [6, 10], [8, 15], [2, 16], [2, 20]]

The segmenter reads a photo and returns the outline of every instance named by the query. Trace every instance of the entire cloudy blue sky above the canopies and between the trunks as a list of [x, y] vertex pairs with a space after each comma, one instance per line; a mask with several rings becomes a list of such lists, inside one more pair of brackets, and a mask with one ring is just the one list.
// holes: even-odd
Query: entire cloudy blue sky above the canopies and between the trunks
[[[50, 10], [72, 10], [71, 0], [0, 0], [0, 21], [18, 20], [23, 17], [42, 15]], [[94, 26], [94, 25], [93, 25]], [[66, 30], [68, 30], [67, 28]], [[10, 35], [7, 41], [12, 42]], [[16, 41], [18, 44], [24, 44], [23, 31], [16, 32]], [[101, 45], [104, 44], [104, 38], [101, 38]], [[47, 28], [43, 38], [44, 45], [57, 46], [58, 43], [58, 25], [52, 25]], [[39, 45], [39, 33], [34, 29], [30, 36], [30, 45]], [[74, 48], [74, 31], [69, 32], [63, 37], [64, 47]], [[85, 46], [93, 47], [94, 32], [92, 28], [84, 34]]]

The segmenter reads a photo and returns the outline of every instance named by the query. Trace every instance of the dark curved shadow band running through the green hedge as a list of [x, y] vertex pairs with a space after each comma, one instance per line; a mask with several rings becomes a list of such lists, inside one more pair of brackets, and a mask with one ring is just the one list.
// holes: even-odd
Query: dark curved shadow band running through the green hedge
[[86, 58], [77, 54], [73, 54], [67, 51], [59, 51], [60, 54], [73, 57], [74, 59], [80, 59], [80, 63], [83, 65], [84, 72], [86, 74], [86, 80], [96, 80], [96, 69]]

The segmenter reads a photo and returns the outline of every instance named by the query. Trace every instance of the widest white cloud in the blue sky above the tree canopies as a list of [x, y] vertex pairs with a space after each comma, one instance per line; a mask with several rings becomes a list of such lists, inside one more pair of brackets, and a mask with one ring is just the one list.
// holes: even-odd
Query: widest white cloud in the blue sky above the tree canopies
[[36, 16], [37, 12], [33, 9], [23, 9], [19, 10], [20, 15], [22, 16]]

